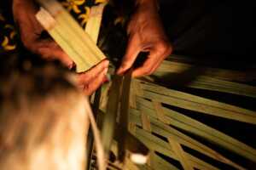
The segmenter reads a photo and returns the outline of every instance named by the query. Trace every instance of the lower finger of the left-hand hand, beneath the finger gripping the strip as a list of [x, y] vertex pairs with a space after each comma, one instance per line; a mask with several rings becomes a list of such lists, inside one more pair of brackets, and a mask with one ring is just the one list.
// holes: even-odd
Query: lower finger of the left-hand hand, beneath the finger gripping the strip
[[106, 75], [108, 72], [108, 68], [105, 68], [104, 71], [102, 71], [93, 81], [91, 81], [89, 84], [84, 86], [84, 94], [90, 95], [96, 91], [97, 88], [99, 88], [103, 82], [106, 80]]

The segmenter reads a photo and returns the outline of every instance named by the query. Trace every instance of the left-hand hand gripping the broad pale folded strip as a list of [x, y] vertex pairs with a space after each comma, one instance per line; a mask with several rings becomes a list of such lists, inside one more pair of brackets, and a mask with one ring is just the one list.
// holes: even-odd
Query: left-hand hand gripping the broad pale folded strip
[[[73, 68], [73, 60], [52, 39], [42, 39], [44, 28], [36, 20], [35, 14], [38, 6], [33, 0], [13, 0], [13, 14], [19, 26], [20, 38], [24, 46], [34, 54], [39, 54], [44, 59], [60, 60], [69, 69]], [[108, 60], [103, 60], [89, 71], [76, 75], [79, 88], [84, 94], [90, 95], [103, 82], [107, 81]]]

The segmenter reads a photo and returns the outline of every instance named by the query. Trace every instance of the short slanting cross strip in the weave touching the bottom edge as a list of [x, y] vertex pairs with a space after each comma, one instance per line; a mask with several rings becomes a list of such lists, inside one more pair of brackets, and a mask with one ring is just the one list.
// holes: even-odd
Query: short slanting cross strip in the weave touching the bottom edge
[[168, 139], [169, 144], [172, 147], [172, 150], [177, 155], [180, 163], [182, 164], [183, 169], [184, 170], [194, 170], [194, 168], [190, 165], [189, 160], [185, 156], [182, 146], [174, 139], [171, 139], [171, 138], [167, 138], [167, 139]]

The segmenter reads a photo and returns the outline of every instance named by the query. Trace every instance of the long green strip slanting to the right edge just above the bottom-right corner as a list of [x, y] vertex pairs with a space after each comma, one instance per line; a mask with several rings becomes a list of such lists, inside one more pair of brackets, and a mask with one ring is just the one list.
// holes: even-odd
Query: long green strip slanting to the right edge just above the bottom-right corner
[[[137, 105], [140, 111], [147, 113], [148, 116], [157, 118], [151, 102], [142, 98], [137, 98]], [[252, 161], [256, 161], [256, 150], [253, 149], [253, 147], [243, 144], [239, 140], [231, 138], [230, 136], [221, 133], [212, 127], [208, 127], [189, 116], [178, 113], [177, 111], [172, 111], [166, 108], [164, 108], [164, 111], [165, 115], [168, 117], [168, 121], [172, 122], [172, 126], [179, 127], [189, 133], [195, 133], [196, 135], [231, 150], [238, 155], [245, 156]]]

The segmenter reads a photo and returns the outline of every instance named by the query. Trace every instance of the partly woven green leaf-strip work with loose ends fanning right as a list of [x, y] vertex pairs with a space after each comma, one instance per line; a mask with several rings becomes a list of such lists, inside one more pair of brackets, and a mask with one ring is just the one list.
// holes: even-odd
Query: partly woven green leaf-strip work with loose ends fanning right
[[[255, 143], [241, 138], [242, 128], [254, 136], [256, 113], [250, 104], [255, 103], [256, 88], [247, 82], [254, 81], [255, 72], [199, 65], [195, 71], [195, 65], [177, 58], [166, 59], [153, 76], [131, 81], [129, 130], [151, 150], [147, 164], [137, 166], [127, 156], [123, 164], [109, 161], [109, 168], [255, 166]], [[108, 88], [102, 88], [102, 111], [107, 101]]]

